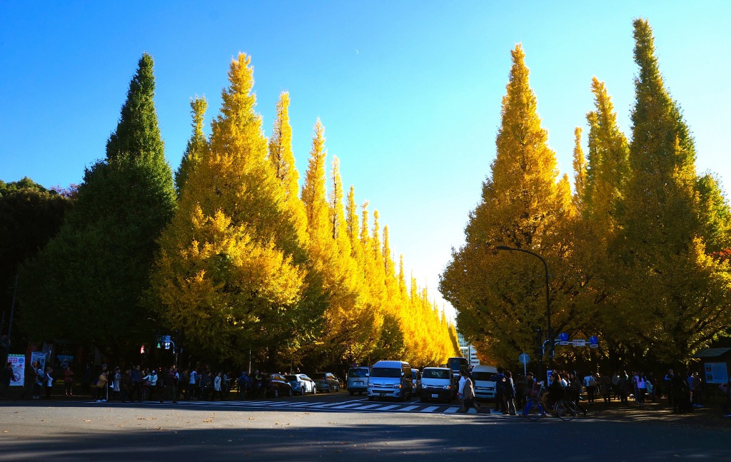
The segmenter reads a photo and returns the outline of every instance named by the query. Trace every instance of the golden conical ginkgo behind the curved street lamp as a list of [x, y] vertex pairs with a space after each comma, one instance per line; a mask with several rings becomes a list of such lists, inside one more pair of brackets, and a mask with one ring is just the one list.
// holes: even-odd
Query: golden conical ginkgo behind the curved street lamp
[[[569, 213], [567, 178], [558, 183], [556, 154], [541, 128], [536, 96], [520, 45], [512, 50], [512, 67], [503, 97], [497, 156], [482, 186], [482, 200], [470, 213], [466, 244], [452, 250], [439, 290], [458, 310], [461, 333], [483, 341], [488, 355], [508, 360], [535, 344], [537, 327], [545, 327], [545, 279], [541, 263], [522, 254], [496, 254], [486, 248], [507, 245], [534, 251], [552, 268], [554, 327], [563, 327], [563, 303], [555, 287], [564, 282], [558, 259], [562, 221]], [[557, 322], [560, 321], [560, 322]]]

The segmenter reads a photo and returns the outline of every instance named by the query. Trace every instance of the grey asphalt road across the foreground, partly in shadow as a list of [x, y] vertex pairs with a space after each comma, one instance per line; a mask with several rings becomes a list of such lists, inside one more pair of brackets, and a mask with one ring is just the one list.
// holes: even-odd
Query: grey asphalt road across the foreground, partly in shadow
[[723, 428], [534, 423], [457, 414], [453, 406], [346, 393], [178, 405], [3, 402], [0, 461], [731, 460], [731, 431]]

